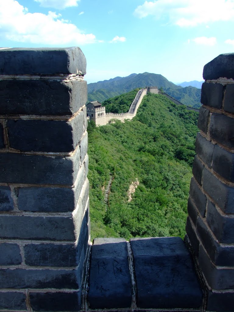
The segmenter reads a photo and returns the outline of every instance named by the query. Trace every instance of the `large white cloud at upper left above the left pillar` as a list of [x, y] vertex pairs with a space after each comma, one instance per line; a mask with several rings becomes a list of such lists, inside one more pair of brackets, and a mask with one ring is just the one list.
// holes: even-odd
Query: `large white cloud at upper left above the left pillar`
[[95, 35], [82, 33], [61, 14], [29, 13], [17, 1], [0, 1], [0, 38], [46, 45], [80, 45], [96, 42]]

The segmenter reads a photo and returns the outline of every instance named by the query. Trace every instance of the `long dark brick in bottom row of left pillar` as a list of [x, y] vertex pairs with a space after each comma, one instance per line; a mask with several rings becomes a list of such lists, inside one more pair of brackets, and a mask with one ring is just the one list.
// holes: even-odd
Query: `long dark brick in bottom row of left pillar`
[[77, 292], [37, 292], [30, 293], [33, 311], [71, 311], [81, 309], [81, 294]]

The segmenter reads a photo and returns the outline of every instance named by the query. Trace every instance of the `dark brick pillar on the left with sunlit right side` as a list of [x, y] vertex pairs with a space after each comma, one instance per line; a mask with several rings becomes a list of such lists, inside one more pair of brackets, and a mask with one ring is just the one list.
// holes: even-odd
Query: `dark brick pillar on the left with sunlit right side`
[[1, 311], [81, 308], [90, 235], [85, 72], [79, 48], [0, 51]]

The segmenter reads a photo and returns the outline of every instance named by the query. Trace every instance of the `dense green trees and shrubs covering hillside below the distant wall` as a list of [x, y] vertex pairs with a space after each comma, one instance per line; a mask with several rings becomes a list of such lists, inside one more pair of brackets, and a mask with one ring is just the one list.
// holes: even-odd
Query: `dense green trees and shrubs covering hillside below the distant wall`
[[[197, 117], [197, 112], [163, 95], [149, 94], [131, 121], [98, 128], [89, 123], [92, 239], [184, 237]], [[115, 178], [106, 207], [110, 172]], [[128, 189], [136, 178], [139, 186], [128, 202]]]

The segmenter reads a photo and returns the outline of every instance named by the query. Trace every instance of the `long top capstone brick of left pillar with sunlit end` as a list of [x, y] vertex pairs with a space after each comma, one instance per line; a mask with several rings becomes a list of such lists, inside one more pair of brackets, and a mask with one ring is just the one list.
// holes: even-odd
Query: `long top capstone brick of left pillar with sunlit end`
[[0, 51], [1, 75], [86, 74], [80, 48], [13, 48]]

